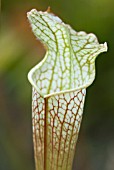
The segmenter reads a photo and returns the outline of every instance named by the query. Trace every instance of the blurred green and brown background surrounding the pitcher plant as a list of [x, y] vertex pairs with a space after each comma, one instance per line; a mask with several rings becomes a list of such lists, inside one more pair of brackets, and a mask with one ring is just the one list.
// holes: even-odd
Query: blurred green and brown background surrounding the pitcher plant
[[73, 170], [114, 170], [114, 0], [5, 0], [0, 30], [0, 170], [35, 170], [28, 71], [45, 50], [26, 18], [32, 8], [52, 11], [75, 30], [108, 42], [87, 89]]

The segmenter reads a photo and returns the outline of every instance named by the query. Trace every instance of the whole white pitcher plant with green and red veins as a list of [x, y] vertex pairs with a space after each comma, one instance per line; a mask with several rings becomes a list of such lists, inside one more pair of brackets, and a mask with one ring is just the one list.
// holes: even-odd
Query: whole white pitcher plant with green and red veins
[[74, 31], [49, 10], [32, 9], [27, 16], [47, 50], [28, 74], [36, 170], [71, 170], [86, 88], [107, 44], [99, 44], [92, 33]]

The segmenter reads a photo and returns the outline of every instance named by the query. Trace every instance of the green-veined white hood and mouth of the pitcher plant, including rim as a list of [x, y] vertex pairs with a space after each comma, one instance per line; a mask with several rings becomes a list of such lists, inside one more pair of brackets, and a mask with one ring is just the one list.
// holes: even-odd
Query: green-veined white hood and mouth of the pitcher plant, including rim
[[28, 79], [44, 98], [87, 88], [95, 79], [95, 59], [107, 51], [96, 36], [76, 32], [59, 17], [31, 10], [28, 14], [35, 36], [46, 46], [44, 59], [32, 68]]

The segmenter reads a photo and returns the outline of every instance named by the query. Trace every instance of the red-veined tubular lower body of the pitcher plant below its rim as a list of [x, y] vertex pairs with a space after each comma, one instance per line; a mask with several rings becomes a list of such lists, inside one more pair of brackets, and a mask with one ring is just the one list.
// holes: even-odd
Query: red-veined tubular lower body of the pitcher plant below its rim
[[33, 88], [32, 123], [36, 170], [71, 170], [86, 90], [43, 98]]

